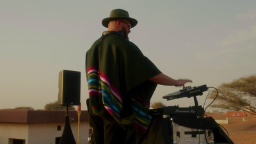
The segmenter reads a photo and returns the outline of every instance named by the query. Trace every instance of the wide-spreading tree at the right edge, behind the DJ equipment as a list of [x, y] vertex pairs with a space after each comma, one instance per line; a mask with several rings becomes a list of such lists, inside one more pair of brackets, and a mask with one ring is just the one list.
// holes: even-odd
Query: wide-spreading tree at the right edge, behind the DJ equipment
[[209, 99], [215, 99], [211, 107], [229, 109], [233, 111], [246, 111], [256, 115], [256, 74], [240, 77], [231, 83], [223, 83], [217, 91], [212, 91]]

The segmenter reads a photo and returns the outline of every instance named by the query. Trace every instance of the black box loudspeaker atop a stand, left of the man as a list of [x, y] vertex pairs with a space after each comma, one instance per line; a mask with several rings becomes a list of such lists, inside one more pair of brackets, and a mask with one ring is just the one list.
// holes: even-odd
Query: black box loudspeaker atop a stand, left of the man
[[59, 72], [58, 104], [79, 106], [81, 93], [81, 72], [61, 70]]

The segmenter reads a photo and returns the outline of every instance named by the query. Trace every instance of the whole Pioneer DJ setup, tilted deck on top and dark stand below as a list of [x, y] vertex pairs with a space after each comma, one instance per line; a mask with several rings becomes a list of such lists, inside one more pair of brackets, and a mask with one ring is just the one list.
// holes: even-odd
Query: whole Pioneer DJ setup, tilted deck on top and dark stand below
[[145, 143], [234, 144], [213, 118], [204, 117], [205, 109], [198, 106], [196, 96], [203, 95], [203, 92], [207, 90], [208, 87], [204, 84], [194, 87], [187, 86], [177, 92], [164, 95], [163, 99], [166, 100], [193, 97], [195, 106], [186, 108], [162, 106], [150, 109], [153, 119]]

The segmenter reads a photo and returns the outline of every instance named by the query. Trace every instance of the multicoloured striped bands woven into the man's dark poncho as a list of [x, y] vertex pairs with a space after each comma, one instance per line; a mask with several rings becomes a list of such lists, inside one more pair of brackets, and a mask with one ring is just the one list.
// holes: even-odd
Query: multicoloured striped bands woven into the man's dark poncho
[[[120, 118], [122, 111], [122, 96], [120, 92], [116, 90], [115, 86], [110, 83], [108, 76], [99, 72], [97, 68], [90, 67], [88, 69], [88, 90], [90, 102], [97, 103], [102, 100], [104, 108], [108, 113], [115, 118], [119, 124], [124, 123], [124, 120]], [[138, 99], [138, 95], [132, 95], [132, 109], [136, 118], [134, 126], [140, 133], [147, 132], [147, 129], [151, 122], [151, 116], [148, 113], [149, 103], [141, 102]], [[95, 101], [94, 101], [95, 100]], [[92, 104], [97, 106], [97, 104]], [[99, 113], [100, 109], [93, 108], [95, 114]]]

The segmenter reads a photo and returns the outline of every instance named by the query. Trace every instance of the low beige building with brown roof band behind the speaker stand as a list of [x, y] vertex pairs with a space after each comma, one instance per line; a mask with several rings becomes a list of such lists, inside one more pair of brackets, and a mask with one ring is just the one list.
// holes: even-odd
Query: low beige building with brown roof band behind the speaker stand
[[[58, 144], [65, 125], [66, 111], [0, 110], [1, 144]], [[79, 132], [77, 111], [68, 111], [76, 143], [88, 143], [89, 120], [81, 111]]]

